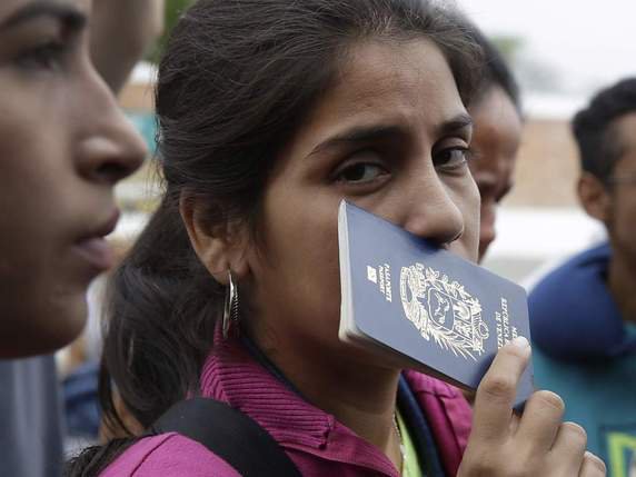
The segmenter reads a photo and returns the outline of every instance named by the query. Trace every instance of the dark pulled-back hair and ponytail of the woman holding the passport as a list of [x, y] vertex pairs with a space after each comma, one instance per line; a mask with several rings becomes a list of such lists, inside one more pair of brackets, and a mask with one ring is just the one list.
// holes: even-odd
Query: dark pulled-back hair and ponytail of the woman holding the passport
[[[100, 379], [107, 423], [125, 428], [111, 380], [145, 428], [199, 388], [225, 288], [193, 252], [179, 201], [205, 207], [210, 229], [247, 223], [258, 244], [277, 155], [339, 80], [351, 49], [369, 39], [429, 39], [468, 103], [481, 57], [465, 24], [423, 0], [200, 0], [186, 12], [157, 86], [165, 196], [110, 284]], [[126, 445], [85, 451], [67, 475], [98, 474]]]

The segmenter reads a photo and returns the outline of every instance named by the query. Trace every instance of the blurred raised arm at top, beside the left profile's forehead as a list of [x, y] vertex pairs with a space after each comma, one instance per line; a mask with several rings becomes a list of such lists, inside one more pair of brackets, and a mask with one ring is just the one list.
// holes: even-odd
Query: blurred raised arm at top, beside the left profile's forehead
[[92, 61], [119, 92], [137, 61], [163, 31], [165, 0], [93, 0]]

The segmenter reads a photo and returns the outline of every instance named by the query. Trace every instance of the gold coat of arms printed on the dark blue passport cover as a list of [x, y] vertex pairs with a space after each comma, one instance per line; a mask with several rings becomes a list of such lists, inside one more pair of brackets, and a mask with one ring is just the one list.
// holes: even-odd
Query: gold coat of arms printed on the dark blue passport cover
[[455, 356], [477, 360], [489, 336], [479, 300], [458, 281], [421, 264], [403, 267], [399, 281], [406, 317], [423, 338], [433, 338]]

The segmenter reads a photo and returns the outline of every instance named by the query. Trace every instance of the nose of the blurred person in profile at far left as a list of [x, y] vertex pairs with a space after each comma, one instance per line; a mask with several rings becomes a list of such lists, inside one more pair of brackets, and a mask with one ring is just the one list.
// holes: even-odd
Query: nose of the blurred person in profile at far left
[[87, 180], [113, 186], [141, 166], [148, 150], [108, 87], [97, 73], [92, 80], [80, 105], [77, 167]]

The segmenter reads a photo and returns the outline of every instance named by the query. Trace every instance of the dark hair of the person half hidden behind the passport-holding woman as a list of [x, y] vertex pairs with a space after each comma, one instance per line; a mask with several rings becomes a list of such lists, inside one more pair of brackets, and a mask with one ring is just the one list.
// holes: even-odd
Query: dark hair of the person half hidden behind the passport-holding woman
[[486, 97], [490, 89], [498, 86], [508, 95], [513, 105], [515, 105], [515, 109], [519, 116], [523, 117], [519, 85], [510, 71], [506, 59], [497, 47], [488, 40], [476, 26], [468, 24], [467, 30], [470, 39], [481, 48], [484, 54], [481, 81], [477, 88], [477, 92], [473, 97], [471, 103], [468, 106], [471, 108], [478, 107], [479, 101]]

